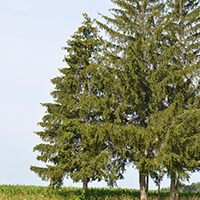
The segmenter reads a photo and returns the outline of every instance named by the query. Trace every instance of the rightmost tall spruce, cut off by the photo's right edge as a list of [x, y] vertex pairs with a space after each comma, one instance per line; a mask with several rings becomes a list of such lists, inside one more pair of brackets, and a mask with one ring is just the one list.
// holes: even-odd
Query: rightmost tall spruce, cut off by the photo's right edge
[[166, 9], [164, 54], [168, 55], [168, 81], [162, 93], [168, 108], [158, 115], [157, 122], [166, 133], [161, 154], [171, 178], [170, 199], [175, 199], [179, 179], [189, 178], [188, 172], [199, 165], [200, 4], [173, 0], [167, 2]]

